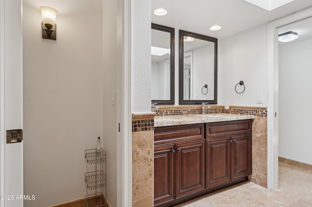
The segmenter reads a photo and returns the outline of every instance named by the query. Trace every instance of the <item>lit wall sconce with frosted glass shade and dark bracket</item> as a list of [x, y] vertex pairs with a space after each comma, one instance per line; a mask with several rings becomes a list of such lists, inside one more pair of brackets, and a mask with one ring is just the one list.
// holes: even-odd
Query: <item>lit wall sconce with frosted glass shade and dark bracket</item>
[[48, 6], [40, 6], [42, 17], [42, 38], [43, 39], [57, 39], [57, 25], [55, 20], [59, 12]]

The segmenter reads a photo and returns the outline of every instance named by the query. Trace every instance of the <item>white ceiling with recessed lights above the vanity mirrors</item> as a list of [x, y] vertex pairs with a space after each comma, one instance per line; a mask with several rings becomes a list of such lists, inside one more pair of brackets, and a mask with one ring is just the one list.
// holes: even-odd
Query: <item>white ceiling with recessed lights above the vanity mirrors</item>
[[[271, 11], [245, 0], [151, 0], [151, 2], [153, 23], [173, 27], [176, 33], [181, 29], [218, 39], [312, 7], [312, 0], [294, 0]], [[157, 8], [166, 9], [167, 15], [154, 15], [153, 12]], [[221, 25], [222, 29], [210, 31], [209, 28], [213, 25]]]

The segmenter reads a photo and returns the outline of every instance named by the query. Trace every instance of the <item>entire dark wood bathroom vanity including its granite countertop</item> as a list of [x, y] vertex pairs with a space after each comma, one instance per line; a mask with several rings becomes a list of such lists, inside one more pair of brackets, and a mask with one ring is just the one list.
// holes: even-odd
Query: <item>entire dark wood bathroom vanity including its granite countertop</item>
[[154, 206], [170, 207], [248, 180], [252, 115], [155, 118]]

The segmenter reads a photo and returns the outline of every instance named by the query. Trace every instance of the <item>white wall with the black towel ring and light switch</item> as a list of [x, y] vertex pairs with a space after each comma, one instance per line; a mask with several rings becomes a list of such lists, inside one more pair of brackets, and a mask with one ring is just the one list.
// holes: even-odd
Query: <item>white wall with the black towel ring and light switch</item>
[[[218, 104], [267, 106], [267, 26], [222, 39], [218, 49]], [[246, 87], [242, 94], [234, 90], [239, 81]], [[256, 103], [257, 93], [263, 104]]]

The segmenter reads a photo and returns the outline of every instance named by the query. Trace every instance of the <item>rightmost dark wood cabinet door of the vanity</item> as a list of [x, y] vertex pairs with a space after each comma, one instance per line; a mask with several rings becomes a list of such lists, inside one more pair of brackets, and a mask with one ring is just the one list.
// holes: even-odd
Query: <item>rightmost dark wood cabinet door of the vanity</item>
[[252, 135], [232, 136], [232, 180], [252, 174]]

